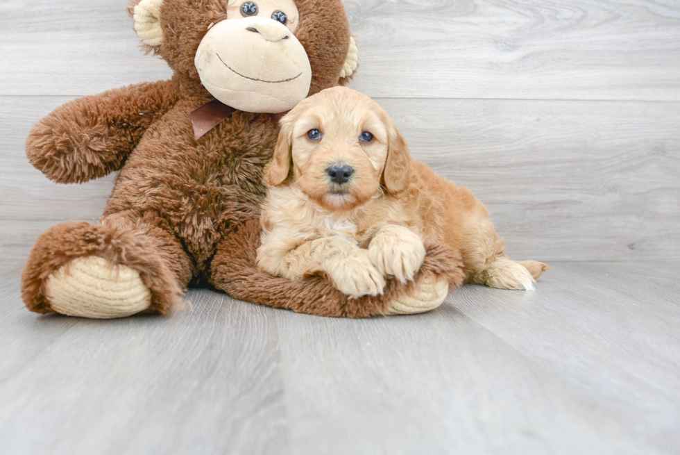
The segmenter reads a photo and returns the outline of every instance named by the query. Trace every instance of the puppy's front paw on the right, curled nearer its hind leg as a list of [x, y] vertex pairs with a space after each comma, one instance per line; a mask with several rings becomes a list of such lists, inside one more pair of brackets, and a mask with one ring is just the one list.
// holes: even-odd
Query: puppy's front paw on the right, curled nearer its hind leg
[[402, 283], [414, 279], [425, 260], [423, 240], [404, 226], [384, 226], [368, 245], [368, 255], [383, 275], [393, 275]]

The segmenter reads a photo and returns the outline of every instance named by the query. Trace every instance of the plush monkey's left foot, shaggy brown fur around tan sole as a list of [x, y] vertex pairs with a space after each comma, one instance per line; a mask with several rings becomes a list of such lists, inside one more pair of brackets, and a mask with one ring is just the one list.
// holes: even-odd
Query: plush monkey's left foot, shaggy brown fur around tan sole
[[[36, 240], [22, 272], [22, 298], [36, 313], [108, 319], [165, 314], [182, 288], [169, 236], [123, 223], [63, 222]], [[181, 271], [180, 271], [181, 272]]]

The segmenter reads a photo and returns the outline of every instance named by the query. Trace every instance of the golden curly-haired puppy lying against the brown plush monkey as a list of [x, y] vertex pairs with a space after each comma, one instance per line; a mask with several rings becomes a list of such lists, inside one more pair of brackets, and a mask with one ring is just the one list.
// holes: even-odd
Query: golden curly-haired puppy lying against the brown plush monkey
[[325, 273], [350, 297], [377, 295], [386, 276], [413, 279], [425, 238], [461, 251], [468, 283], [532, 290], [547, 270], [506, 256], [484, 204], [413, 160], [389, 115], [355, 90], [323, 90], [291, 110], [266, 174], [263, 272]]

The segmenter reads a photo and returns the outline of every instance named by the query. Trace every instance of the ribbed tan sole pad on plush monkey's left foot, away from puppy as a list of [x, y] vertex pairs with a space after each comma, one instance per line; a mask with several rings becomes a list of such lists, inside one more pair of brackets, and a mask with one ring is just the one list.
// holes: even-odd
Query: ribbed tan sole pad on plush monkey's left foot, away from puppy
[[99, 256], [76, 258], [51, 274], [46, 296], [57, 313], [92, 319], [126, 317], [151, 305], [139, 272]]

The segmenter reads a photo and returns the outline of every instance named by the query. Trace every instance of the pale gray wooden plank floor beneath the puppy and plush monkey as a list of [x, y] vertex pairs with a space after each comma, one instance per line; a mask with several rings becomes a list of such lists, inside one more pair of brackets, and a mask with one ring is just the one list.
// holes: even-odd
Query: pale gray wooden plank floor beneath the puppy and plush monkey
[[0, 270], [1, 454], [677, 454], [678, 264], [333, 320], [192, 290], [168, 317], [28, 313]]

